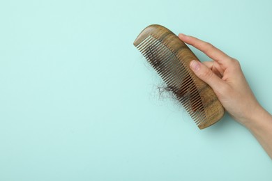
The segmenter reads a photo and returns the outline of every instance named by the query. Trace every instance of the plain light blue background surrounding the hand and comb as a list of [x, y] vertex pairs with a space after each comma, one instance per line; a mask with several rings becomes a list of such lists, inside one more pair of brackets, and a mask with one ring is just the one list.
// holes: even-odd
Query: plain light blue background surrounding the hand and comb
[[272, 112], [271, 7], [1, 0], [0, 180], [272, 180], [247, 129], [226, 114], [199, 130], [133, 46], [149, 24], [209, 41]]

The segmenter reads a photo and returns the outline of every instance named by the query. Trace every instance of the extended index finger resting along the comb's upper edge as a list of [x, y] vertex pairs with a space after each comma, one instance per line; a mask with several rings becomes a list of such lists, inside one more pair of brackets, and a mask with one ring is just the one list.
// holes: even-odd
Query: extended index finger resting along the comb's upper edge
[[204, 52], [207, 56], [212, 58], [214, 61], [217, 61], [224, 67], [227, 67], [231, 63], [232, 58], [222, 52], [220, 49], [214, 47], [209, 42], [204, 42], [192, 36], [186, 36], [184, 34], [179, 34], [179, 38], [183, 40], [183, 42], [192, 45], [193, 47], [199, 49], [200, 51]]

